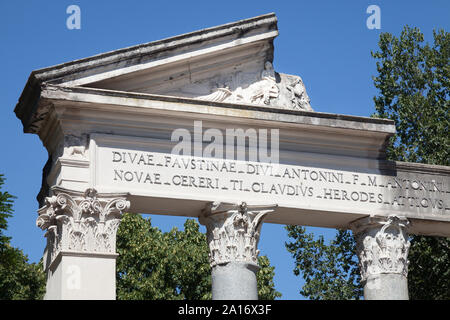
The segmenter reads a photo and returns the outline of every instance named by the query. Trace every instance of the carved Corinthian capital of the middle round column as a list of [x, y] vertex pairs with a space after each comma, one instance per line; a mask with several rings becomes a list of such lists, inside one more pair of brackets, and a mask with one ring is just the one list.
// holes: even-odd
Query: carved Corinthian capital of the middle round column
[[258, 264], [257, 249], [262, 221], [276, 205], [209, 204], [200, 216], [206, 226], [211, 267], [229, 262]]

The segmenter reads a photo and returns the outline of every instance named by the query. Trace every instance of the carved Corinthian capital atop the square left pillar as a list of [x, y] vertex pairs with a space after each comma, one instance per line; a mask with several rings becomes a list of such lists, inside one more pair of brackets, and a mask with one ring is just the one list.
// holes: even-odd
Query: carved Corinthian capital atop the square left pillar
[[121, 215], [130, 208], [124, 195], [100, 195], [95, 189], [84, 193], [54, 188], [38, 210], [36, 224], [46, 230], [44, 268], [60, 252], [116, 253], [116, 233]]

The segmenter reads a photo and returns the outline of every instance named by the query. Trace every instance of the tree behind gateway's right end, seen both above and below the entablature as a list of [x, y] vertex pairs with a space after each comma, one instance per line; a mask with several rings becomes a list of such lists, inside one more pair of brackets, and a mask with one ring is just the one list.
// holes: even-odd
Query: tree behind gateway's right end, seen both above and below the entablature
[[[397, 134], [388, 146], [391, 160], [449, 165], [450, 34], [433, 32], [424, 44], [417, 28], [406, 26], [399, 37], [382, 33], [374, 77], [375, 117], [394, 120]], [[311, 299], [360, 299], [355, 239], [338, 230], [327, 244], [305, 228], [287, 226], [288, 251], [302, 274], [300, 293]], [[411, 299], [450, 299], [450, 239], [412, 236], [408, 286]]]

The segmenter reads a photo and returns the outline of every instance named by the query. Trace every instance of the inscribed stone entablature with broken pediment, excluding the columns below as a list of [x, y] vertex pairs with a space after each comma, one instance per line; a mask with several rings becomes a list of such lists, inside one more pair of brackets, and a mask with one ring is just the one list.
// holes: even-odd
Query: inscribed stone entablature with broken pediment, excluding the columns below
[[[269, 223], [346, 228], [372, 213], [397, 214], [414, 222], [412, 234], [448, 236], [449, 167], [388, 161], [392, 120], [311, 112], [302, 79], [272, 65], [277, 35], [267, 14], [33, 71], [15, 112], [49, 152], [41, 206], [52, 186], [130, 193], [134, 213], [189, 217], [209, 202], [270, 197], [278, 208]], [[249, 141], [255, 131], [277, 133], [270, 149], [279, 158], [217, 152], [212, 160], [225, 171], [177, 167], [212, 163], [172, 152], [172, 134], [198, 137], [198, 122], [203, 138], [210, 129], [243, 130]], [[116, 161], [118, 153], [147, 165]]]

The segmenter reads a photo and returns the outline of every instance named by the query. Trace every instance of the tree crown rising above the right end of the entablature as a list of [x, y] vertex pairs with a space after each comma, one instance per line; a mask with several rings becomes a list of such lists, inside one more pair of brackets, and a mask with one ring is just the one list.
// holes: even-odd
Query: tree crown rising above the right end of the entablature
[[450, 165], [450, 33], [434, 31], [432, 46], [417, 28], [380, 35], [376, 115], [395, 121], [393, 160]]

